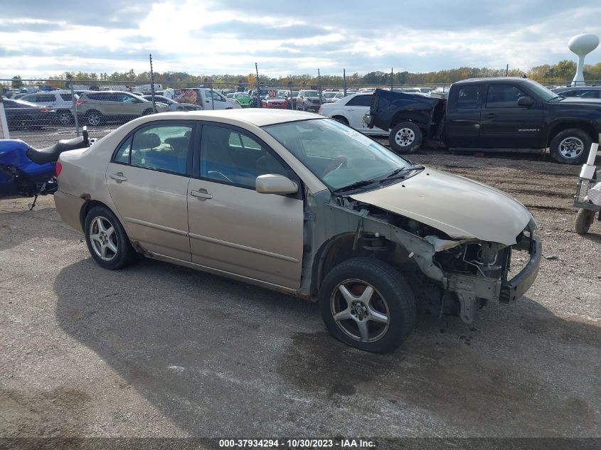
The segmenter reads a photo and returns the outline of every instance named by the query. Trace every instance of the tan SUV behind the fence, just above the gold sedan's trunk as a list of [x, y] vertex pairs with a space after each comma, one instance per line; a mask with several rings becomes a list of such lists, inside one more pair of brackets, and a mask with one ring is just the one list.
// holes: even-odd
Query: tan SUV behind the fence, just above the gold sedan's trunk
[[[95, 127], [107, 121], [127, 122], [135, 117], [152, 114], [152, 102], [121, 91], [83, 92], [77, 102], [78, 117]], [[169, 106], [156, 103], [157, 112], [169, 111]]]

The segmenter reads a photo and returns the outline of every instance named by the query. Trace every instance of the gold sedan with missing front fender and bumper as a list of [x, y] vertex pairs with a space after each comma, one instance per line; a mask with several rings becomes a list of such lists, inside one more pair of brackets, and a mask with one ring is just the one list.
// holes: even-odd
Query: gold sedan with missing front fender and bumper
[[[336, 338], [371, 352], [405, 341], [417, 311], [471, 323], [516, 301], [541, 261], [516, 200], [306, 112], [141, 117], [57, 173], [58, 214], [101, 267], [140, 253], [319, 301]], [[511, 277], [514, 252], [529, 258]]]

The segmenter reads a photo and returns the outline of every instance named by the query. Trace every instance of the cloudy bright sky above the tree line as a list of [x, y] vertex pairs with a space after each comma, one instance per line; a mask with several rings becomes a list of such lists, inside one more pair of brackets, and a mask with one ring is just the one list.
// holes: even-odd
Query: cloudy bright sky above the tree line
[[[65, 71], [341, 75], [575, 60], [599, 0], [0, 0], [0, 78]], [[601, 48], [586, 63], [601, 62]]]

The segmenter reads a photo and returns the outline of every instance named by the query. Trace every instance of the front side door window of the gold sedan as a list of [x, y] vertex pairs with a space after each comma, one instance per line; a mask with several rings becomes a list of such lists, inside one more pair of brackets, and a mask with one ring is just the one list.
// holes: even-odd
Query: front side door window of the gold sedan
[[291, 176], [289, 169], [257, 139], [225, 127], [203, 127], [202, 178], [254, 189], [257, 176], [266, 173]]

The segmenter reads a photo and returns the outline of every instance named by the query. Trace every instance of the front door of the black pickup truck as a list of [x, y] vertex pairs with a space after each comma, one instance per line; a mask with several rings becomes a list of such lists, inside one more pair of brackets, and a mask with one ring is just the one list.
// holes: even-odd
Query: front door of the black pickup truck
[[[491, 83], [480, 113], [480, 146], [484, 149], [536, 149], [543, 142], [543, 109], [518, 105], [528, 93], [509, 83]], [[531, 97], [534, 100], [534, 97]]]

